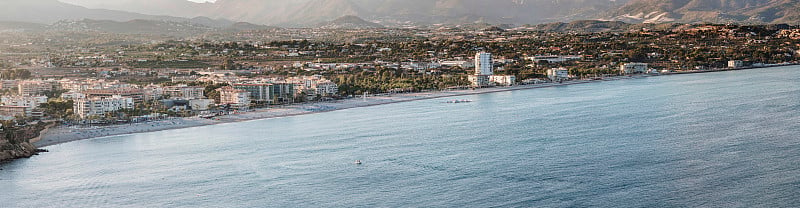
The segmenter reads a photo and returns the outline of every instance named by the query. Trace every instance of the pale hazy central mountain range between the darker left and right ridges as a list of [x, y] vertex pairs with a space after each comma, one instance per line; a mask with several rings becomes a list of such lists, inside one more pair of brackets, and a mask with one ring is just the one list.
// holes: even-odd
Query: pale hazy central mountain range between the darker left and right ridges
[[543, 23], [593, 19], [627, 0], [61, 0], [96, 9], [214, 19], [277, 26], [314, 26], [342, 16], [383, 25]]

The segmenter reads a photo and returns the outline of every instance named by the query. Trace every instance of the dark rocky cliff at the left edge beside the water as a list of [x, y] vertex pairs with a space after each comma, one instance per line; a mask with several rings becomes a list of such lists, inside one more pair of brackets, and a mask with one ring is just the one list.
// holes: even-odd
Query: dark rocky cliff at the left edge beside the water
[[0, 135], [0, 161], [28, 158], [45, 150], [36, 149], [31, 140], [35, 140], [41, 131], [52, 124], [36, 124], [22, 128], [4, 129]]

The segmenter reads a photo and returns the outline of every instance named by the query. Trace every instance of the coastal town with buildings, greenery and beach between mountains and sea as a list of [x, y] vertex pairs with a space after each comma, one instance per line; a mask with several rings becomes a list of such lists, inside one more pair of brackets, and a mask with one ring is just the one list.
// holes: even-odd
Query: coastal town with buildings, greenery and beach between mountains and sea
[[[31, 149], [476, 92], [800, 60], [800, 29], [788, 25], [582, 32], [532, 27], [287, 30], [305, 37], [283, 40], [265, 38], [274, 30], [239, 32], [233, 36], [239, 40], [208, 35], [149, 42], [72, 34], [103, 37], [88, 44], [5, 32], [0, 120], [4, 137], [16, 142], [0, 145]], [[353, 38], [319, 38], [329, 36]]]

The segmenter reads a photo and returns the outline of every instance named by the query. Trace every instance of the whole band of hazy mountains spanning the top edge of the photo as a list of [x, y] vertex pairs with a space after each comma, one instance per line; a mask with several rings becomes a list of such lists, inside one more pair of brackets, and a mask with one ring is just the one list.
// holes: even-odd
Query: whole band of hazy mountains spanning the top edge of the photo
[[[344, 16], [385, 26], [538, 24], [602, 19], [641, 22], [800, 23], [797, 0], [3, 0], [0, 21], [63, 19], [236, 22], [314, 27]], [[350, 18], [349, 22], [358, 22]], [[363, 23], [360, 25], [368, 25]], [[336, 28], [336, 25], [329, 25]], [[378, 25], [373, 25], [378, 27]]]

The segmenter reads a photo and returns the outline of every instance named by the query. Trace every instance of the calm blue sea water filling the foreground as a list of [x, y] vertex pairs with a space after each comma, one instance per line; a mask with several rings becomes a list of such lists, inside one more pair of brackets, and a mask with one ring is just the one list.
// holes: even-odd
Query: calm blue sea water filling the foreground
[[0, 207], [800, 206], [799, 67], [458, 99], [52, 146]]

